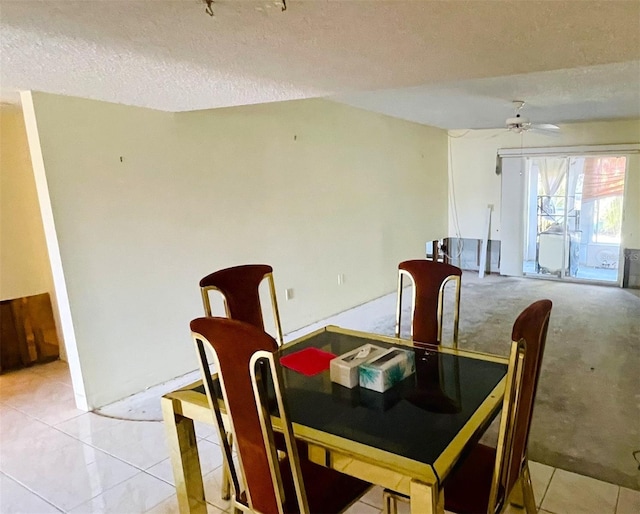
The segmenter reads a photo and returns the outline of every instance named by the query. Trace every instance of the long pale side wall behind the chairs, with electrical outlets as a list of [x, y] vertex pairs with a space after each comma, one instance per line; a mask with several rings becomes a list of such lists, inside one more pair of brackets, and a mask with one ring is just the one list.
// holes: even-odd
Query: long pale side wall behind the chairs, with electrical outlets
[[196, 367], [188, 322], [217, 268], [272, 264], [288, 332], [392, 291], [446, 234], [438, 129], [324, 100], [33, 102], [90, 407]]

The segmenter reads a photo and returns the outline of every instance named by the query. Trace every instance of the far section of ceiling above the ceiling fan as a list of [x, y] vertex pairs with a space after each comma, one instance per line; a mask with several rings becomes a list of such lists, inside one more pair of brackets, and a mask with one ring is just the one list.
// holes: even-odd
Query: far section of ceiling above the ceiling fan
[[[640, 118], [640, 61], [346, 93], [334, 100], [447, 129], [500, 128], [525, 100], [534, 123]], [[640, 137], [640, 134], [638, 134]]]

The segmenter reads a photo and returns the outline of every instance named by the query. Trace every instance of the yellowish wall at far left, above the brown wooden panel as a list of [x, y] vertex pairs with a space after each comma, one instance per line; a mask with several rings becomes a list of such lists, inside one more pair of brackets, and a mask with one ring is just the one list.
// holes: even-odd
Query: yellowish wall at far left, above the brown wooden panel
[[[0, 108], [0, 300], [52, 294], [22, 110]], [[53, 296], [53, 295], [52, 295]]]

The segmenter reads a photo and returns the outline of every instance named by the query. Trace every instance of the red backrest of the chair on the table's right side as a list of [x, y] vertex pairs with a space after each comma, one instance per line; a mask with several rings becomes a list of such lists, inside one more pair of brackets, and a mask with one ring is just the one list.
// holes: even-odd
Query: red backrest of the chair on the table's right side
[[489, 512], [508, 498], [527, 456], [551, 307], [551, 300], [538, 300], [522, 311], [513, 325]]

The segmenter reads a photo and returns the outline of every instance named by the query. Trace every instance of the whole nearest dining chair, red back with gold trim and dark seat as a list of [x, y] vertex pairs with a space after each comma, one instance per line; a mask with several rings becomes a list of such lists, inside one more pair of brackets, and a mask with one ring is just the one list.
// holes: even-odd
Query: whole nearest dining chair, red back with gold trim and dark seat
[[[337, 513], [369, 489], [371, 484], [367, 482], [299, 457], [280, 366], [273, 353], [277, 344], [269, 334], [227, 318], [198, 318], [191, 322], [191, 330], [209, 407], [231, 473], [235, 509], [262, 514]], [[215, 361], [219, 388], [211, 375], [205, 349], [210, 350]], [[275, 399], [269, 399], [269, 389], [275, 392]], [[234, 434], [242, 481], [231, 447], [222, 437], [225, 427], [220, 401], [224, 402]], [[272, 412], [278, 413], [278, 426], [286, 443], [285, 458], [280, 458], [274, 443]]]

